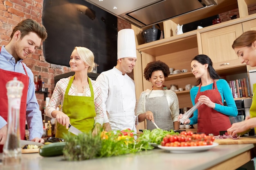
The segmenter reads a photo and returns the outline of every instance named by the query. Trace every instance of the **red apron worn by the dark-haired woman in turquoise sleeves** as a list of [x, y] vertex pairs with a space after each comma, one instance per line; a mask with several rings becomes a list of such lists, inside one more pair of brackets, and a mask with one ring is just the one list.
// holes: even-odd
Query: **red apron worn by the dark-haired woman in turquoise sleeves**
[[[213, 81], [213, 89], [200, 92], [202, 83], [199, 86], [198, 94], [195, 97], [195, 103], [199, 96], [205, 95], [210, 98], [212, 102], [223, 105], [220, 92], [218, 91], [216, 81]], [[198, 132], [213, 133], [215, 136], [220, 135], [220, 131], [227, 131], [231, 127], [229, 116], [222, 114], [207, 105], [201, 105], [198, 108]]]

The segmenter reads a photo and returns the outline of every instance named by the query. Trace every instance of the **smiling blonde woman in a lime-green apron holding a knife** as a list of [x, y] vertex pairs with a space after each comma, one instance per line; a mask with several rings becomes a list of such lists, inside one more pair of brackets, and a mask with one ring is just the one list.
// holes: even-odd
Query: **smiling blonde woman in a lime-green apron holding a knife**
[[[57, 119], [56, 137], [67, 133], [69, 124], [82, 132], [99, 133], [103, 123], [101, 88], [88, 77], [94, 66], [94, 55], [85, 47], [75, 47], [70, 56], [74, 76], [56, 83], [46, 108], [46, 115]], [[59, 103], [63, 103], [58, 111]], [[95, 118], [95, 121], [94, 121]]]

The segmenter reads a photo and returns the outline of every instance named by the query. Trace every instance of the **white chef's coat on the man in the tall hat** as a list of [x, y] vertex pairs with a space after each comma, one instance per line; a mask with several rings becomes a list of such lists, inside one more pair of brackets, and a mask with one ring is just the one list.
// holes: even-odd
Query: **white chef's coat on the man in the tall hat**
[[[127, 74], [117, 68], [102, 72], [96, 80], [101, 86], [103, 111], [108, 111], [108, 120], [112, 130], [130, 128], [136, 133], [135, 128], [135, 83]], [[104, 116], [106, 123], [106, 115]]]

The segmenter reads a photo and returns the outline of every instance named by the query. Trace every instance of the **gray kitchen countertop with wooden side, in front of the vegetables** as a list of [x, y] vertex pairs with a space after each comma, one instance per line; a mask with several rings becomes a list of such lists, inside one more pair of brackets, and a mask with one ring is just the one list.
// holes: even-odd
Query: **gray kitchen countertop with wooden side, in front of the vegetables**
[[196, 153], [170, 153], [155, 148], [136, 154], [76, 162], [63, 161], [63, 156], [41, 157], [38, 153], [31, 153], [22, 154], [19, 170], [232, 170], [250, 161], [254, 157], [253, 150], [254, 144], [219, 145]]

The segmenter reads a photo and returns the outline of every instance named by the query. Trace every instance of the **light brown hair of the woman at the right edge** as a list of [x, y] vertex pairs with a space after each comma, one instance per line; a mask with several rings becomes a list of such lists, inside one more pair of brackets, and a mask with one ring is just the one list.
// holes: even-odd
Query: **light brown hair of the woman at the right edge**
[[250, 47], [254, 41], [256, 41], [256, 31], [246, 31], [234, 41], [232, 48]]

